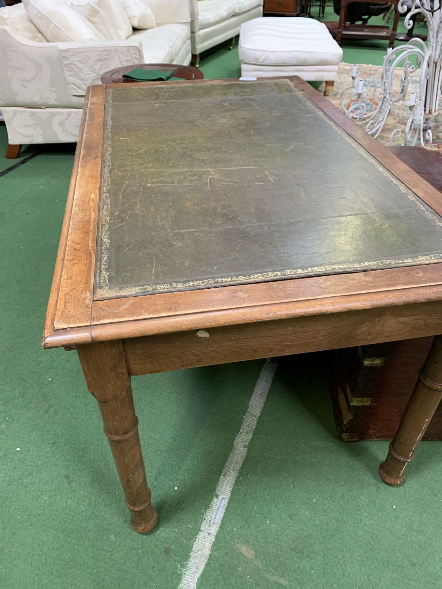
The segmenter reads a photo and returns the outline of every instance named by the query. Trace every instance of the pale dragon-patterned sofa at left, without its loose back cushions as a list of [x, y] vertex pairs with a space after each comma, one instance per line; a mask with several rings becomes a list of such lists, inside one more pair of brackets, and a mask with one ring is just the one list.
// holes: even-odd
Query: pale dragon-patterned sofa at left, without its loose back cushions
[[[180, 11], [182, 18], [184, 1], [188, 22], [173, 22]], [[19, 26], [19, 18], [14, 18], [14, 28], [5, 24], [2, 12], [11, 8], [0, 9], [0, 110], [8, 131], [6, 157], [17, 157], [21, 144], [77, 141], [86, 88], [100, 84], [105, 71], [141, 63], [188, 65], [189, 6], [187, 0], [167, 2], [170, 9], [157, 27], [133, 30], [124, 41], [51, 43], [38, 31], [34, 38], [42, 40], [32, 41], [32, 35], [22, 36], [27, 29], [25, 23]], [[180, 10], [174, 10], [174, 4]], [[21, 4], [12, 8], [26, 18]]]

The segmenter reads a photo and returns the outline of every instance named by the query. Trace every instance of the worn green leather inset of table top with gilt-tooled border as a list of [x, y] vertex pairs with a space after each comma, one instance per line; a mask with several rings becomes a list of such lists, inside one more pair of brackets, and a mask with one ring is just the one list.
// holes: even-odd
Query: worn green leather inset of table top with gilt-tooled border
[[288, 80], [106, 89], [95, 299], [442, 260], [442, 219]]

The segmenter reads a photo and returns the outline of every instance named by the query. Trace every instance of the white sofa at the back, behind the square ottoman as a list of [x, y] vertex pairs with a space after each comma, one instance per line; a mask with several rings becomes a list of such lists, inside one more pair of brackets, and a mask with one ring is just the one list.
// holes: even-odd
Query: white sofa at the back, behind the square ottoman
[[190, 0], [192, 64], [199, 67], [200, 53], [235, 39], [243, 22], [262, 16], [262, 6], [263, 0]]

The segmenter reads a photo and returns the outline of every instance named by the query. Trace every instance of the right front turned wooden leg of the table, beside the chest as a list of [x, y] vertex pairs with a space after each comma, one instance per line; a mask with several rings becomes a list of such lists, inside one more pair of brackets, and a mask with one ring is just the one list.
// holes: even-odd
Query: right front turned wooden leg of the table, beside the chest
[[404, 482], [404, 471], [421, 441], [434, 412], [442, 399], [442, 336], [434, 338], [427, 359], [419, 372], [413, 395], [405, 409], [387, 458], [379, 467], [382, 481], [387, 485]]

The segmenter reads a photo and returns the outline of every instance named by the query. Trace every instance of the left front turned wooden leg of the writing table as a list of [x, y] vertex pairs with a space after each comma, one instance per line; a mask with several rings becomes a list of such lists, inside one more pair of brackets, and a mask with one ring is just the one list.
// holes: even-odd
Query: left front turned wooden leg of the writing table
[[100, 407], [104, 433], [131, 512], [130, 525], [144, 534], [156, 524], [157, 514], [150, 502], [123, 345], [121, 341], [90, 343], [78, 346], [77, 352], [87, 387]]

